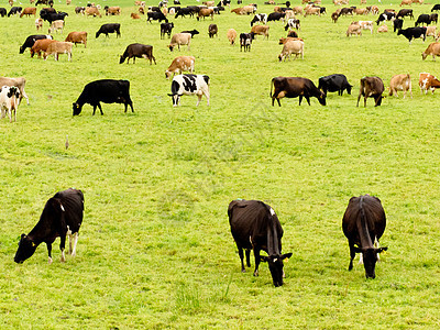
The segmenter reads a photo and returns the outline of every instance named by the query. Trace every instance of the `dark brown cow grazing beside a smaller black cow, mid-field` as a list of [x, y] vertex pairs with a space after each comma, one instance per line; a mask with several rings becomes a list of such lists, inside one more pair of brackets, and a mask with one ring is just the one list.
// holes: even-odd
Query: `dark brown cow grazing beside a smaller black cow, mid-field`
[[[274, 87], [274, 94], [272, 94], [272, 87]], [[307, 103], [310, 106], [310, 97], [318, 99], [319, 103], [326, 106], [326, 95], [319, 90], [314, 81], [308, 78], [301, 77], [275, 77], [271, 84], [271, 97], [272, 106], [274, 106], [275, 99], [278, 101], [278, 106], [282, 103], [279, 99], [297, 98], [299, 97], [299, 106], [301, 105], [302, 97], [306, 98]]]

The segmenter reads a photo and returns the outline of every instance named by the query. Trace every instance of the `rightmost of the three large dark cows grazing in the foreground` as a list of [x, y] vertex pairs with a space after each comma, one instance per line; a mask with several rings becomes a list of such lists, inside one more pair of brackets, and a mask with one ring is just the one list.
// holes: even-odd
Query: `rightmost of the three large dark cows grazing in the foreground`
[[[378, 248], [378, 240], [385, 231], [386, 217], [377, 197], [363, 195], [352, 197], [342, 218], [342, 230], [350, 246], [349, 271], [353, 270], [356, 253], [363, 260], [366, 278], [375, 278], [378, 254], [388, 248]], [[374, 245], [373, 245], [374, 244]]]

